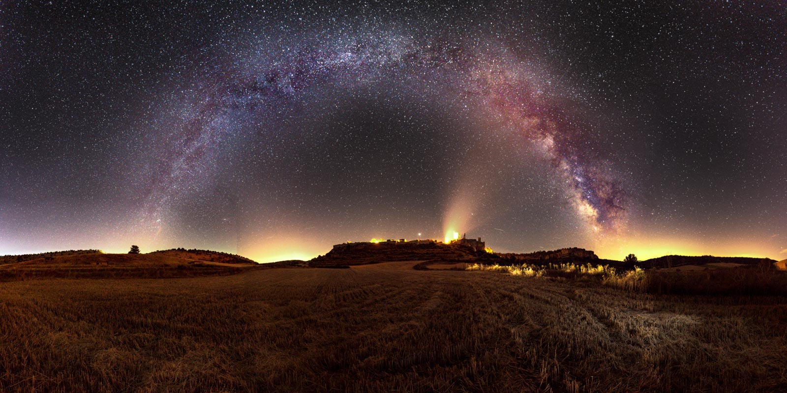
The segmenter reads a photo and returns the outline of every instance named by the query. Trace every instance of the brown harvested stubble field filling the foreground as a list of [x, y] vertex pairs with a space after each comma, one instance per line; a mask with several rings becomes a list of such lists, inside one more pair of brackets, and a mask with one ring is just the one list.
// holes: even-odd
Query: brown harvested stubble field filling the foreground
[[787, 301], [486, 271], [0, 283], [0, 391], [785, 391]]

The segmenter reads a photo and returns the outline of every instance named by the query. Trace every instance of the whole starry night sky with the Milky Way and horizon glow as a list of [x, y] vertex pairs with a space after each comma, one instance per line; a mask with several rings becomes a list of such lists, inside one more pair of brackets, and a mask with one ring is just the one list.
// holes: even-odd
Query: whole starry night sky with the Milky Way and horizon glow
[[0, 4], [0, 254], [787, 258], [783, 2]]

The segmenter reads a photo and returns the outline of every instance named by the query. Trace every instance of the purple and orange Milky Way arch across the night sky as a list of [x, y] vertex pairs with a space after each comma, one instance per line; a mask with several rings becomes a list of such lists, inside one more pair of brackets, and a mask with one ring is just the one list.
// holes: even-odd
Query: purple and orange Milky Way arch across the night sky
[[[214, 61], [197, 72], [198, 87], [183, 97], [176, 131], [158, 147], [164, 166], [148, 174], [147, 222], [159, 222], [172, 200], [209, 178], [231, 134], [249, 132], [238, 118], [275, 123], [305, 97], [380, 81], [442, 92], [512, 126], [541, 149], [562, 177], [578, 214], [600, 233], [623, 220], [619, 182], [600, 166], [597, 152], [582, 149], [582, 130], [567, 121], [565, 101], [544, 88], [527, 63], [491, 40], [473, 43], [369, 34], [275, 45], [260, 44], [231, 61]], [[154, 226], [156, 224], [153, 224]]]

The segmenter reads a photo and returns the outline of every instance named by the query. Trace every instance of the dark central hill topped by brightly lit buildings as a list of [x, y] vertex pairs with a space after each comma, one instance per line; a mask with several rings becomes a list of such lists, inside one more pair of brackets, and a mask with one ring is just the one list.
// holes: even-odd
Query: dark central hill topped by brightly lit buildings
[[368, 265], [393, 261], [423, 261], [431, 259], [464, 260], [486, 255], [457, 244], [436, 241], [386, 241], [381, 243], [336, 244], [326, 255], [309, 261], [312, 267]]

